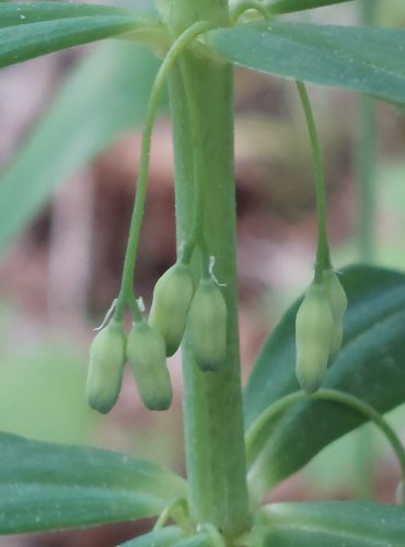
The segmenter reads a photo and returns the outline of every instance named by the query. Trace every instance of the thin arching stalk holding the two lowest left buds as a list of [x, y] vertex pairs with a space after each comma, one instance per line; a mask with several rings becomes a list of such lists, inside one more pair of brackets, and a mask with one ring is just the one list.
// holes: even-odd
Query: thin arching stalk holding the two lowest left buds
[[148, 176], [149, 176], [149, 158], [152, 140], [153, 124], [159, 108], [160, 98], [162, 95], [163, 86], [167, 73], [172, 69], [177, 56], [189, 45], [189, 43], [199, 34], [212, 28], [209, 23], [197, 22], [177, 37], [169, 49], [157, 78], [154, 80], [148, 110], [146, 115], [144, 128], [142, 133], [142, 144], [140, 153], [139, 175], [137, 181], [137, 194], [134, 202], [132, 216], [129, 228], [129, 236], [127, 251], [125, 254], [123, 280], [118, 295], [117, 305], [115, 309], [115, 318], [121, 319], [125, 306], [128, 305], [137, 321], [141, 319], [141, 313], [136, 303], [136, 295], [134, 293], [134, 274], [136, 266], [136, 258], [138, 252], [139, 234], [143, 219], [144, 201], [147, 197]]

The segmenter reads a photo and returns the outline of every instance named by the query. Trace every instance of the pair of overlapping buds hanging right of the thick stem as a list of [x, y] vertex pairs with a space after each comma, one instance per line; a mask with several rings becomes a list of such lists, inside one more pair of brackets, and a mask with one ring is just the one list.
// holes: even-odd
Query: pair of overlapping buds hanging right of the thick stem
[[325, 270], [305, 292], [296, 318], [296, 375], [305, 393], [320, 388], [342, 346], [347, 298], [336, 274]]

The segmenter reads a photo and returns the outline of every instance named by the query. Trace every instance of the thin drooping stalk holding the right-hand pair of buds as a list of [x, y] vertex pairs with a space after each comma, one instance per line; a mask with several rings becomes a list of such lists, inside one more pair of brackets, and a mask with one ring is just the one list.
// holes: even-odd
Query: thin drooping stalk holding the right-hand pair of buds
[[296, 82], [300, 94], [302, 108], [305, 114], [308, 130], [310, 133], [312, 156], [315, 168], [315, 188], [316, 188], [316, 213], [317, 213], [317, 249], [315, 264], [315, 279], [322, 280], [322, 272], [331, 269], [329, 246], [327, 243], [326, 226], [326, 190], [325, 177], [320, 143], [316, 133], [315, 120], [312, 114], [311, 103], [303, 82]]

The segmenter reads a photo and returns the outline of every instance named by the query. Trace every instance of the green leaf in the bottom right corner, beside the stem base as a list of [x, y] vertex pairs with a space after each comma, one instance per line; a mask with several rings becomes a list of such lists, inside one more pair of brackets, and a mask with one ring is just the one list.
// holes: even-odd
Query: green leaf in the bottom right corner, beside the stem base
[[264, 547], [402, 547], [403, 507], [357, 502], [271, 503]]

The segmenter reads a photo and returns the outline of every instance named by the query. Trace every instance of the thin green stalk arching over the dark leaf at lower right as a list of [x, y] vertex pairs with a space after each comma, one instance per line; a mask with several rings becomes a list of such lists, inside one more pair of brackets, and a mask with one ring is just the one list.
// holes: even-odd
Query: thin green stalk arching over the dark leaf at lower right
[[259, 450], [258, 445], [261, 443], [261, 439], [263, 439], [264, 435], [267, 437], [266, 432], [268, 431], [268, 426], [277, 415], [284, 412], [285, 410], [296, 405], [297, 403], [302, 403], [311, 399], [328, 400], [338, 403], [340, 405], [345, 405], [346, 407], [349, 407], [352, 410], [356, 410], [357, 412], [361, 414], [367, 420], [370, 420], [373, 423], [375, 423], [375, 426], [385, 435], [386, 440], [389, 441], [393, 451], [395, 452], [401, 465], [403, 480], [405, 480], [405, 449], [402, 445], [402, 442], [397, 437], [397, 434], [395, 433], [395, 431], [387, 423], [384, 417], [369, 404], [364, 403], [358, 397], [355, 397], [354, 395], [339, 392], [337, 389], [324, 388], [313, 393], [310, 396], [304, 394], [303, 392], [294, 392], [289, 395], [286, 395], [281, 399], [270, 405], [253, 422], [253, 424], [251, 426], [250, 430], [246, 433], [245, 444], [246, 444], [247, 462], [252, 463], [255, 459], [257, 451]]

